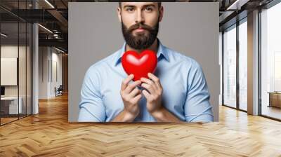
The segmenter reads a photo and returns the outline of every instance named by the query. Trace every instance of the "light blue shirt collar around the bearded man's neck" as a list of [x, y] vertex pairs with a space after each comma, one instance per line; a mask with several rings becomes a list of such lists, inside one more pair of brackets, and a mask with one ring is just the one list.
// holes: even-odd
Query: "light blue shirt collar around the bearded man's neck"
[[[166, 53], [166, 47], [162, 45], [162, 43], [158, 40], [159, 46], [157, 51], [157, 59], [159, 60], [161, 56], [163, 56], [169, 62], [169, 56]], [[122, 48], [117, 51], [117, 56], [115, 58], [115, 66], [121, 62], [121, 58], [125, 53], [126, 42], [123, 44]]]

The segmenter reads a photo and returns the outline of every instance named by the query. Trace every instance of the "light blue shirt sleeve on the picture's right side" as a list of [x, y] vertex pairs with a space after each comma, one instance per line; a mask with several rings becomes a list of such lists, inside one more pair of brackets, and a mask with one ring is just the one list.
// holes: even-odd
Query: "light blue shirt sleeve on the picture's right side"
[[188, 72], [188, 93], [186, 95], [184, 111], [185, 121], [211, 122], [214, 121], [207, 81], [200, 64], [195, 62]]

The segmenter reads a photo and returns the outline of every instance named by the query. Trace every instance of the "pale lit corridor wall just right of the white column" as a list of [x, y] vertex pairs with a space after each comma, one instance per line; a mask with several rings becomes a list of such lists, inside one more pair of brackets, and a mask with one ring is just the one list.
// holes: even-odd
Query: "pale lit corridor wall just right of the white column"
[[[54, 74], [58, 75], [57, 79]], [[61, 84], [61, 53], [51, 47], [39, 47], [39, 99], [55, 97], [55, 87], [58, 88]]]

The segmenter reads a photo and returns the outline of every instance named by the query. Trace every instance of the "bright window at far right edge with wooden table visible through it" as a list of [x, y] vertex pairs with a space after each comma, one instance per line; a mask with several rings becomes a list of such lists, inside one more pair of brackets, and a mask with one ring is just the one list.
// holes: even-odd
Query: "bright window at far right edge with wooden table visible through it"
[[281, 3], [261, 12], [261, 115], [281, 119]]

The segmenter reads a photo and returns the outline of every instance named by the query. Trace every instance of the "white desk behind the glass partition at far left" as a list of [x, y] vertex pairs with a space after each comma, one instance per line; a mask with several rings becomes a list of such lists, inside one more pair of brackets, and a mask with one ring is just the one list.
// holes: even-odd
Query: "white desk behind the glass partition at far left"
[[4, 114], [22, 114], [22, 97], [1, 97], [1, 110]]

